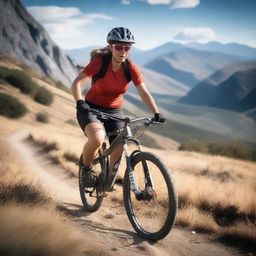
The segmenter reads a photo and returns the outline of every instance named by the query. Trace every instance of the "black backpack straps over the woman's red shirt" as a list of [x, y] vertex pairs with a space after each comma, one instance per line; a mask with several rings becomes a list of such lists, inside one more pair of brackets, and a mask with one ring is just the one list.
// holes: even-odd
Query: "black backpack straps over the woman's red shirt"
[[[100, 79], [106, 75], [107, 70], [108, 70], [108, 65], [111, 62], [111, 58], [112, 58], [111, 54], [102, 55], [101, 68], [100, 68], [99, 72], [92, 77], [92, 84], [95, 83], [98, 79]], [[129, 83], [132, 80], [130, 66], [129, 66], [129, 60], [126, 59], [124, 62], [122, 62], [121, 66], [124, 70], [125, 77]]]

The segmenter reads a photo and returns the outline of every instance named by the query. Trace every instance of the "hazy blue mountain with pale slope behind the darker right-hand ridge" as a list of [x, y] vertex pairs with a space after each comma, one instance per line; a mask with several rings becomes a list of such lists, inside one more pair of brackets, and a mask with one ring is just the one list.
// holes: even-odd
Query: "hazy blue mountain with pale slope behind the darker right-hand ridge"
[[144, 66], [192, 88], [217, 69], [239, 60], [241, 58], [223, 53], [182, 48], [159, 56]]

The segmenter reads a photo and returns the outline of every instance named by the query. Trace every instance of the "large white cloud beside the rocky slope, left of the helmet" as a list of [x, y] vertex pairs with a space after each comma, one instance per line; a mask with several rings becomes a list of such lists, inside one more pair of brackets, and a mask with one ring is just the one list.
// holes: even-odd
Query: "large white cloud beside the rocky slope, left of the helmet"
[[32, 6], [27, 9], [63, 49], [84, 47], [88, 39], [85, 26], [97, 19], [114, 19], [101, 13], [84, 14], [75, 7]]

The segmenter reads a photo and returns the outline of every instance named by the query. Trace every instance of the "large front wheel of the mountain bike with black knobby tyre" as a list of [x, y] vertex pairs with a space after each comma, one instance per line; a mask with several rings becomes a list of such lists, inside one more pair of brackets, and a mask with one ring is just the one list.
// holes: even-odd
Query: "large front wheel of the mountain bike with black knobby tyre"
[[171, 230], [178, 199], [167, 166], [154, 154], [140, 152], [131, 159], [139, 194], [131, 189], [129, 170], [124, 178], [124, 204], [136, 232], [144, 238], [159, 240]]

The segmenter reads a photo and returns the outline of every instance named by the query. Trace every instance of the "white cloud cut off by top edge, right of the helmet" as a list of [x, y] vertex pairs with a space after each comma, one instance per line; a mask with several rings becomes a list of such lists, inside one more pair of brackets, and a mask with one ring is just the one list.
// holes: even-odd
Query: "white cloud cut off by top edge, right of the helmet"
[[[128, 1], [128, 0], [122, 0]], [[146, 1], [149, 4], [166, 4], [170, 5], [172, 9], [176, 8], [194, 8], [200, 4], [200, 0], [141, 0]]]

